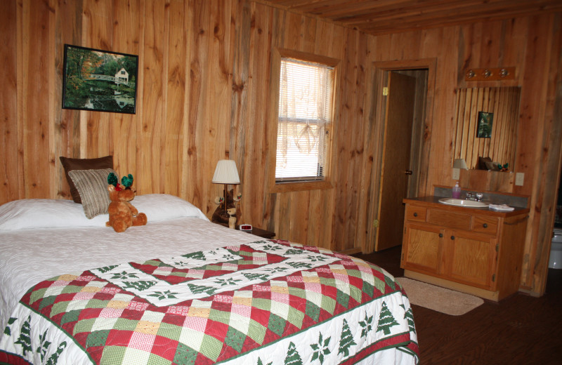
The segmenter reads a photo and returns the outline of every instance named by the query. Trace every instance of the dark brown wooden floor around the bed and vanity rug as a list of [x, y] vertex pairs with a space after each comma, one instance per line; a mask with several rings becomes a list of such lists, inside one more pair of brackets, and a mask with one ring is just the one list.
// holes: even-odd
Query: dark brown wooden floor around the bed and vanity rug
[[[354, 256], [401, 277], [400, 249]], [[541, 298], [517, 293], [458, 317], [412, 309], [420, 364], [562, 364], [562, 270], [549, 269]]]

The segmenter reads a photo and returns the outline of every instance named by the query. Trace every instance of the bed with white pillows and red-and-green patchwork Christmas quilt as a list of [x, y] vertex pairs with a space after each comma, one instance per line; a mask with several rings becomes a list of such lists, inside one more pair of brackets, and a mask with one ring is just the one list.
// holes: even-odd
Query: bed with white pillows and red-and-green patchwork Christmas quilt
[[385, 270], [136, 197], [116, 233], [63, 199], [0, 206], [0, 363], [417, 364], [405, 292]]

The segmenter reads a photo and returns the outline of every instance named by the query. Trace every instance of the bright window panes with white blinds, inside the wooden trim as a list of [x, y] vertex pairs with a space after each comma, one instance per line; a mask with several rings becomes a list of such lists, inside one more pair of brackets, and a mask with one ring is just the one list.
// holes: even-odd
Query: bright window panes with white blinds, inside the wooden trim
[[280, 58], [275, 183], [326, 178], [335, 79], [331, 63]]

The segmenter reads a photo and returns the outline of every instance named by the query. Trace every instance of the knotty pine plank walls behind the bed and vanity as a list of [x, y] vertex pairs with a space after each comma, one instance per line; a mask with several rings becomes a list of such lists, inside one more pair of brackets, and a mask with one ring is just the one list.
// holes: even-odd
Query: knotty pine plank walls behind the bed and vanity
[[[242, 180], [244, 223], [303, 244], [370, 251], [366, 211], [379, 152], [369, 141], [380, 130], [372, 126], [373, 62], [433, 59], [419, 195], [452, 183], [455, 88], [521, 86], [514, 170], [525, 185], [514, 193], [531, 201], [522, 288], [540, 295], [561, 161], [560, 26], [553, 13], [368, 36], [250, 0], [0, 1], [0, 203], [69, 199], [58, 157], [113, 154], [139, 194], [174, 194], [210, 216], [221, 194], [214, 167], [229, 157]], [[62, 110], [64, 44], [138, 55], [136, 114]], [[268, 192], [275, 47], [341, 60], [332, 189]], [[502, 66], [516, 67], [516, 80], [464, 81], [468, 68]]]

